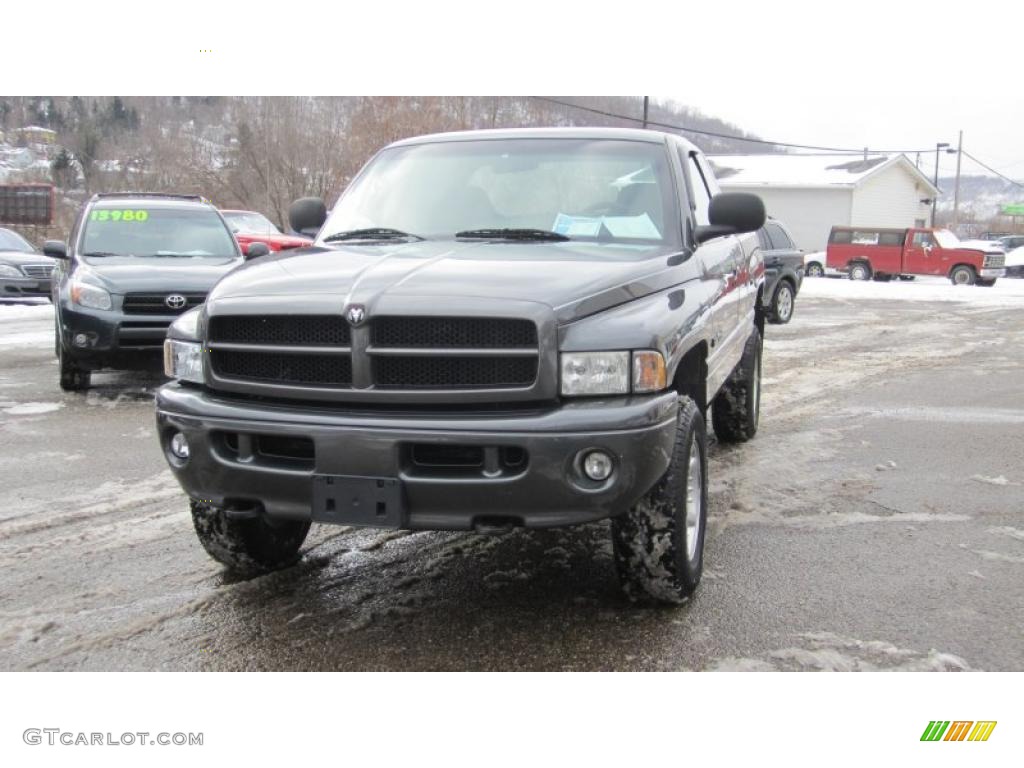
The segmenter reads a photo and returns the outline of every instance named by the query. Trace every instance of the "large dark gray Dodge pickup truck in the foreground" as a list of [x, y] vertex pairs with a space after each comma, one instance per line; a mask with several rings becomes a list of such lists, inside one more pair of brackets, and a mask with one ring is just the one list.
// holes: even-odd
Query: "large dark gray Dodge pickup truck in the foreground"
[[500, 531], [611, 519], [634, 599], [703, 563], [705, 416], [757, 431], [761, 200], [653, 131], [423, 136], [377, 154], [311, 247], [234, 270], [169, 329], [159, 439], [216, 560], [311, 522]]

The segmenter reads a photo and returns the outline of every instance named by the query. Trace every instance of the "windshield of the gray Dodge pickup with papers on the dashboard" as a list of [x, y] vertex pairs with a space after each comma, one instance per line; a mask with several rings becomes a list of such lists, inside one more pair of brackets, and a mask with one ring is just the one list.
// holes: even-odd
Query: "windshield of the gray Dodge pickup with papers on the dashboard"
[[554, 231], [570, 240], [678, 245], [662, 144], [611, 139], [479, 139], [385, 150], [321, 230], [372, 228], [421, 238]]

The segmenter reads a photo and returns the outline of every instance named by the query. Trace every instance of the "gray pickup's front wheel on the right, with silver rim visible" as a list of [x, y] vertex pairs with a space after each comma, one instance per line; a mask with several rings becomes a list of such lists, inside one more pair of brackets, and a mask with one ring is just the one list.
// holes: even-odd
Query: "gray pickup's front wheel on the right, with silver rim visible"
[[708, 521], [708, 438], [696, 403], [679, 397], [669, 469], [611, 519], [615, 566], [631, 600], [678, 604], [700, 583]]

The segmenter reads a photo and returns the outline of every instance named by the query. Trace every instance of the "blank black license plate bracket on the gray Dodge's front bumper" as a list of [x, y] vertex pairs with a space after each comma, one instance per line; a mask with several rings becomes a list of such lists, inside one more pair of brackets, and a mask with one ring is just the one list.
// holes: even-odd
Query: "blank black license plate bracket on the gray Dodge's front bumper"
[[312, 501], [315, 522], [399, 528], [406, 520], [397, 477], [313, 475]]

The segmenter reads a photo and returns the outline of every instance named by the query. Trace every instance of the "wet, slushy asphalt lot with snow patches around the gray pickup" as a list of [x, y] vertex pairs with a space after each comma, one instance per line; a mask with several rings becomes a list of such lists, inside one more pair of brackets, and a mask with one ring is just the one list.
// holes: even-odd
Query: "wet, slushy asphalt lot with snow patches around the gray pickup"
[[621, 597], [605, 524], [314, 526], [233, 580], [160, 377], [61, 393], [49, 309], [0, 306], [0, 670], [1024, 670], [1024, 304], [813, 293], [769, 327], [757, 437], [712, 446], [678, 608]]

